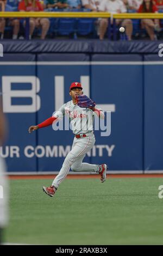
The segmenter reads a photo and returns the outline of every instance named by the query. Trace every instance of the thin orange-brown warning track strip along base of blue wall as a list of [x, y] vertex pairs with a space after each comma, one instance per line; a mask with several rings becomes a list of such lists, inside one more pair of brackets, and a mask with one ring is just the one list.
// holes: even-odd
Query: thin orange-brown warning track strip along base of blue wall
[[[18, 180], [18, 179], [54, 179], [56, 175], [9, 175], [9, 179]], [[78, 175], [70, 174], [67, 175], [66, 179], [99, 179], [98, 174], [92, 175]], [[108, 174], [108, 179], [114, 178], [163, 178], [162, 174]]]

